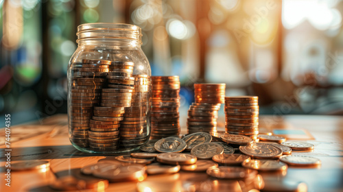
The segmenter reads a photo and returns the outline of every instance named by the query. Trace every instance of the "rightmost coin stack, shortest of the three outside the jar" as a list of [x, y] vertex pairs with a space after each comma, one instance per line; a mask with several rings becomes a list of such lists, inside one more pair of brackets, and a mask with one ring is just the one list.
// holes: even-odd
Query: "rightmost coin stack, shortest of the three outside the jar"
[[259, 97], [225, 97], [224, 110], [225, 130], [228, 134], [241, 134], [258, 141]]

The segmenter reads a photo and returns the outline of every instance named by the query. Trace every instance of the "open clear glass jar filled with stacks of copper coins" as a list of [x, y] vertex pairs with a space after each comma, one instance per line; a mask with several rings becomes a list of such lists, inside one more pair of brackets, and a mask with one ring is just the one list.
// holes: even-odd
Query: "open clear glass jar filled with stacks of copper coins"
[[82, 152], [130, 152], [150, 137], [150, 64], [141, 28], [115, 23], [78, 26], [69, 61], [69, 140]]

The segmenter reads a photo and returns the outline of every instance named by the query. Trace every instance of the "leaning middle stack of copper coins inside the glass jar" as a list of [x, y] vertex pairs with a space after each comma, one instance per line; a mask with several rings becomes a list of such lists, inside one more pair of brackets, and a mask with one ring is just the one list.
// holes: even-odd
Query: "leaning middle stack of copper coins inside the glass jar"
[[[108, 88], [102, 88], [100, 106], [94, 108], [89, 145], [94, 151], [109, 152], [119, 149], [119, 126], [125, 108], [131, 106], [134, 91], [133, 62], [111, 62], [107, 78]], [[123, 134], [123, 133], [120, 133]]]

